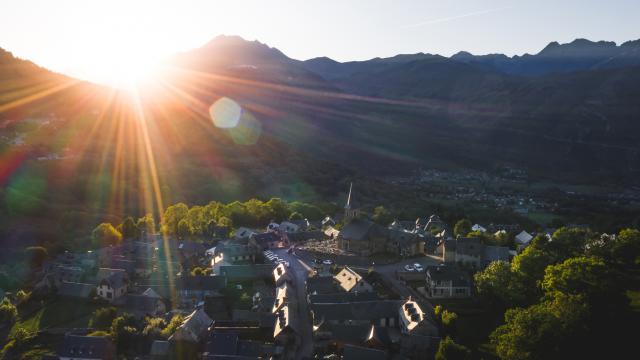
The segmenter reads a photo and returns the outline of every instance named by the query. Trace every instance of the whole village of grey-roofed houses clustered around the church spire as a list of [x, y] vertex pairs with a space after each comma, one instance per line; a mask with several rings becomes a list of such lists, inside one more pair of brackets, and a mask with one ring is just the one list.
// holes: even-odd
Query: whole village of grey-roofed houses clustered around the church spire
[[511, 247], [489, 245], [454, 236], [437, 215], [385, 227], [351, 190], [342, 214], [315, 223], [241, 227], [210, 247], [145, 234], [46, 261], [32, 296], [115, 308], [132, 321], [179, 319], [166, 339], [134, 349], [96, 328], [48, 329], [64, 336], [53, 358], [433, 358], [435, 304], [472, 299], [474, 271], [509, 262], [533, 239], [517, 225], [467, 229], [514, 236]]

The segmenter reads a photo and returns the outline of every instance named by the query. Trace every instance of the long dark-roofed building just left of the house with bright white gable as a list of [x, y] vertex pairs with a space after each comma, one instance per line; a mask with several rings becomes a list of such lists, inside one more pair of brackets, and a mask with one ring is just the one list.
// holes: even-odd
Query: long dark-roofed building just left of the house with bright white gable
[[398, 326], [398, 300], [360, 301], [341, 304], [310, 304], [313, 325]]

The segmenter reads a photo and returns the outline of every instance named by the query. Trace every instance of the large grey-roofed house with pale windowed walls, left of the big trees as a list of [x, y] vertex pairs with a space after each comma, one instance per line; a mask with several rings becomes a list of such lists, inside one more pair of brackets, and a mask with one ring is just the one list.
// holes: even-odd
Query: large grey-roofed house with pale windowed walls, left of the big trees
[[471, 286], [469, 275], [453, 265], [427, 267], [425, 286], [427, 297], [469, 297]]

